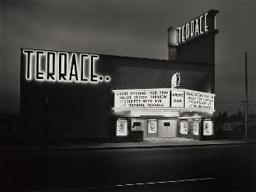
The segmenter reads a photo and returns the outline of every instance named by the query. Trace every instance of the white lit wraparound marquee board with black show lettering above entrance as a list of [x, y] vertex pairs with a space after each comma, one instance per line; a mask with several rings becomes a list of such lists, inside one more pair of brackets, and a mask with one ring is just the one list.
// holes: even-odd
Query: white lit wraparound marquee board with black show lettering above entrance
[[114, 90], [115, 108], [214, 110], [215, 94], [178, 88]]

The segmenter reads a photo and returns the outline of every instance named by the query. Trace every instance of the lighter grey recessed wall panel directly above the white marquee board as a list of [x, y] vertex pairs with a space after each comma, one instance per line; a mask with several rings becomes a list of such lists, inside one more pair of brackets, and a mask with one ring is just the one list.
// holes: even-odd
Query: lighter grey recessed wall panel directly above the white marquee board
[[116, 89], [171, 88], [171, 76], [181, 74], [180, 88], [211, 93], [211, 75], [206, 71], [116, 67]]

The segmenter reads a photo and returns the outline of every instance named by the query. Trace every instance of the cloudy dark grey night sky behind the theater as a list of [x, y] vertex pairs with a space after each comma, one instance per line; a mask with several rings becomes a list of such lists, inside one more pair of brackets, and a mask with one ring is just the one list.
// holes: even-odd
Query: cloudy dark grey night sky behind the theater
[[168, 59], [169, 26], [217, 9], [216, 109], [256, 113], [255, 1], [1, 1], [0, 111], [19, 111], [20, 48]]

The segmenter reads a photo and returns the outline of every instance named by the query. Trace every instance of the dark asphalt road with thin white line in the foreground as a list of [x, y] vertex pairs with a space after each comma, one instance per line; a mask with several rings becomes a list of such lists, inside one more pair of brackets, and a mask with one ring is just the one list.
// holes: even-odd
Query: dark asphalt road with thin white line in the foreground
[[223, 191], [229, 183], [232, 191], [244, 191], [247, 179], [255, 178], [255, 149], [250, 144], [5, 152], [3, 185], [14, 191]]

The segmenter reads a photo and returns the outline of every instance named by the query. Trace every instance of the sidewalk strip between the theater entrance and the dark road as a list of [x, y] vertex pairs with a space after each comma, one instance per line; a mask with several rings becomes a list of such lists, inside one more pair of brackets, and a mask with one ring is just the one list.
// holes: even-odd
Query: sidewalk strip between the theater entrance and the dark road
[[[248, 142], [256, 143], [256, 139]], [[149, 149], [149, 148], [168, 148], [168, 147], [195, 147], [195, 146], [227, 146], [227, 145], [244, 145], [244, 140], [222, 139], [197, 141], [194, 139], [184, 138], [144, 138], [144, 142], [119, 142], [119, 143], [99, 143], [99, 144], [68, 144], [49, 146], [47, 149], [41, 146], [6, 146], [5, 151], [37, 151], [37, 150], [97, 150], [97, 149]]]

